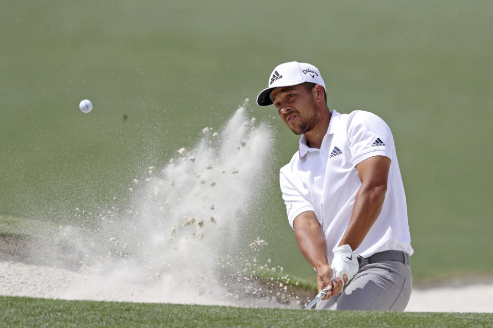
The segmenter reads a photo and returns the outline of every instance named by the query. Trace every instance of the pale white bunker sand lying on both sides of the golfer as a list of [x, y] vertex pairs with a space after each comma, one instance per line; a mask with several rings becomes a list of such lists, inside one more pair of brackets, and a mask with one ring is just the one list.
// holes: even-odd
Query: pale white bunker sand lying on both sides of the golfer
[[[122, 273], [124, 276], [125, 274]], [[97, 288], [94, 288], [97, 286]], [[0, 295], [28, 296], [50, 299], [87, 299], [128, 302], [169, 302], [170, 296], [145, 284], [95, 275], [86, 275], [59, 268], [21, 262], [0, 261]], [[198, 303], [254, 307], [289, 307], [268, 299], [249, 298], [239, 301], [230, 296], [222, 301], [197, 296], [195, 302], [173, 295], [173, 303]], [[406, 311], [412, 312], [493, 312], [493, 283], [461, 287], [414, 289]]]

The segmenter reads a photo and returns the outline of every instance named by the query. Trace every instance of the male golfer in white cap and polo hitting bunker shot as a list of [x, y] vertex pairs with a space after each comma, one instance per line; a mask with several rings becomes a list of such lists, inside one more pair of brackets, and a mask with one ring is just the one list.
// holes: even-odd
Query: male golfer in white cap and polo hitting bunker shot
[[413, 250], [387, 124], [365, 111], [330, 111], [318, 69], [296, 61], [274, 69], [257, 104], [274, 105], [301, 135], [279, 179], [299, 250], [318, 291], [329, 290], [316, 309], [404, 311]]

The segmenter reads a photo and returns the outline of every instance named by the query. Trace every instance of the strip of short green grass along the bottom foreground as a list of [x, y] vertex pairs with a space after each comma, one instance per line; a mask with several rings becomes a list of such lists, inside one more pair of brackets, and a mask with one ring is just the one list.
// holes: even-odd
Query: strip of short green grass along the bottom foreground
[[0, 327], [490, 327], [493, 314], [326, 312], [0, 296]]

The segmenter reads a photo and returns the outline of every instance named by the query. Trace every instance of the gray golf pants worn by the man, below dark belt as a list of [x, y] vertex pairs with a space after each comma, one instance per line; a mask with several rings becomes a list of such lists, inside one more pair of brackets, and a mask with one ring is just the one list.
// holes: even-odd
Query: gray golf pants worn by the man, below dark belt
[[317, 310], [404, 311], [411, 296], [409, 264], [382, 261], [359, 268], [342, 293], [318, 301]]

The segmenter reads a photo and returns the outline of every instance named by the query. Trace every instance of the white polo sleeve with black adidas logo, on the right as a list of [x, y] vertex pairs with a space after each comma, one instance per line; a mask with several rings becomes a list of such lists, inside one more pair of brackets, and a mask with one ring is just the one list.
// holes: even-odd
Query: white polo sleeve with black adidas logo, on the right
[[386, 156], [392, 160], [394, 138], [385, 121], [364, 111], [353, 112], [348, 120], [348, 137], [353, 165], [373, 156]]

